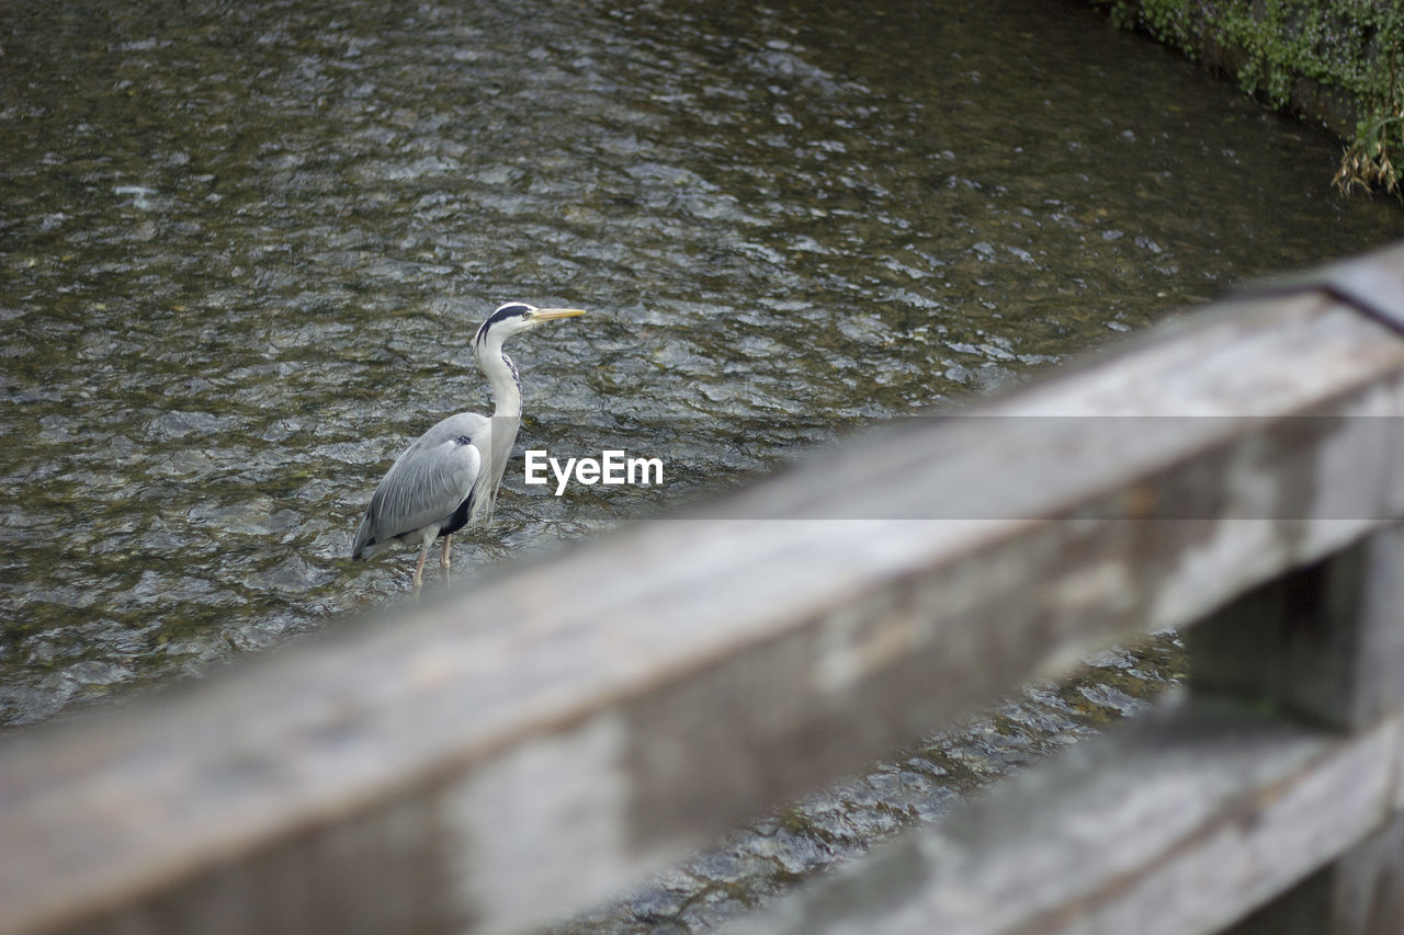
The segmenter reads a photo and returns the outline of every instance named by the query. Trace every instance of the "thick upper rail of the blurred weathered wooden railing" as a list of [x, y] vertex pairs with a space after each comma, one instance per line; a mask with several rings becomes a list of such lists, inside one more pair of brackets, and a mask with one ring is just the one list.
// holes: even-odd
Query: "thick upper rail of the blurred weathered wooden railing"
[[[885, 432], [403, 621], [35, 731], [0, 750], [0, 931], [237, 907], [279, 861], [307, 879], [260, 931], [330, 903], [414, 904], [424, 931], [569, 910], [1398, 515], [1398, 442], [1355, 417], [1401, 400], [1404, 340], [1382, 326], [1320, 296], [1226, 306], [998, 418]], [[1352, 418], [1300, 418], [1323, 414]], [[1372, 480], [1335, 484], [1342, 468]], [[347, 828], [375, 845], [336, 844]], [[414, 873], [378, 879], [392, 863]]]

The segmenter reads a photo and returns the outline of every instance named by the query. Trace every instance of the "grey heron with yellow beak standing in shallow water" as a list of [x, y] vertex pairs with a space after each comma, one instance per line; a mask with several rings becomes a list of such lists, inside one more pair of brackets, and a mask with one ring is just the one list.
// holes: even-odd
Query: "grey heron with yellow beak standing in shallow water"
[[439, 566], [448, 578], [452, 536], [491, 517], [521, 424], [521, 376], [503, 351], [503, 343], [545, 321], [577, 314], [584, 312], [508, 302], [487, 316], [473, 337], [473, 357], [493, 387], [491, 418], [477, 413], [449, 416], [396, 458], [371, 496], [371, 505], [355, 532], [352, 557], [369, 559], [396, 542], [418, 545], [420, 560], [411, 578], [418, 595], [424, 559], [434, 539], [442, 536]]

